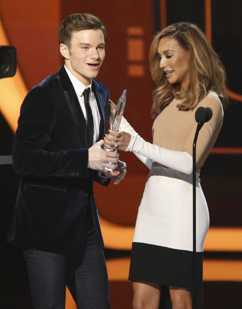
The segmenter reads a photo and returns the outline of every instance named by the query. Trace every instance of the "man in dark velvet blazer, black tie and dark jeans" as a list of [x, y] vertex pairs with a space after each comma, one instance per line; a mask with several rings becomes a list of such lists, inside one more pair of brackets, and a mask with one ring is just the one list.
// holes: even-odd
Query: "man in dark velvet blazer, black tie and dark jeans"
[[93, 180], [119, 183], [126, 170], [119, 154], [101, 148], [109, 94], [94, 77], [105, 35], [94, 15], [63, 20], [64, 65], [21, 107], [13, 165], [22, 177], [8, 240], [23, 247], [36, 309], [64, 309], [66, 284], [78, 309], [110, 308]]

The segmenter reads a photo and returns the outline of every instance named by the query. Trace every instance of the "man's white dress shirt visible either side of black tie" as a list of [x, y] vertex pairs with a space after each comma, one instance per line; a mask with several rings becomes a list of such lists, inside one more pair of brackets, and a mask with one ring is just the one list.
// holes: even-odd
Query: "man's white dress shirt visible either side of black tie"
[[[68, 69], [67, 67], [64, 65], [65, 70], [68, 74], [68, 76], [71, 79], [71, 82], [73, 84], [73, 87], [76, 91], [76, 95], [77, 98], [79, 100], [83, 115], [86, 119], [87, 122], [87, 112], [86, 112], [86, 108], [85, 108], [85, 103], [84, 103], [84, 96], [83, 96], [83, 92], [86, 88], [90, 88], [91, 89], [91, 84], [92, 84], [92, 80], [91, 80], [91, 84], [86, 87], [82, 82], [80, 82]], [[92, 117], [93, 117], [93, 124], [94, 124], [94, 128], [93, 128], [93, 141], [92, 141], [92, 145], [97, 141], [98, 136], [99, 136], [99, 125], [100, 125], [100, 113], [98, 110], [98, 106], [97, 106], [97, 101], [95, 98], [94, 93], [91, 91], [89, 94], [89, 104], [91, 107], [91, 112], [92, 112]]]

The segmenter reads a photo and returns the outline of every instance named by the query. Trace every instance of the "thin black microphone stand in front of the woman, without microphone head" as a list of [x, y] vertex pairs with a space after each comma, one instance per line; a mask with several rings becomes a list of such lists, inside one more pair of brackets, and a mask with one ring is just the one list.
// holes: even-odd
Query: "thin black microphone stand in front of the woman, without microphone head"
[[203, 122], [199, 121], [197, 124], [197, 130], [195, 133], [194, 141], [193, 141], [193, 297], [192, 297], [192, 309], [196, 309], [196, 302], [197, 302], [197, 287], [196, 287], [196, 252], [197, 252], [197, 219], [196, 219], [196, 145], [197, 145], [197, 137], [198, 133], [203, 126]]

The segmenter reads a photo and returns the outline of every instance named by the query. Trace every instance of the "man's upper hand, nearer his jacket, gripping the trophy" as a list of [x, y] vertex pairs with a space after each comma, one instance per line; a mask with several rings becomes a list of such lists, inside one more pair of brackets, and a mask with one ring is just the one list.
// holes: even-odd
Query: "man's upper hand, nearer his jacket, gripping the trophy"
[[[101, 172], [106, 172], [105, 168], [115, 170], [117, 168], [117, 163], [119, 161], [119, 154], [106, 151], [102, 149], [104, 140], [101, 139], [95, 143], [91, 148], [89, 148], [88, 153], [88, 163], [92, 170], [101, 170]], [[109, 164], [109, 162], [113, 163]]]

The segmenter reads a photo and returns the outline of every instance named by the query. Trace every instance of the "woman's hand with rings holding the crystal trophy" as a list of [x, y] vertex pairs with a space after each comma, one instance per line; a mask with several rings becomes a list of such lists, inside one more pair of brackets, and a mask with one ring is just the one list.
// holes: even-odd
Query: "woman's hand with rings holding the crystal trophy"
[[124, 131], [114, 132], [110, 131], [105, 134], [105, 147], [108, 149], [126, 150], [131, 140], [131, 135]]

